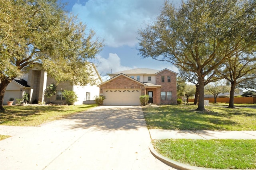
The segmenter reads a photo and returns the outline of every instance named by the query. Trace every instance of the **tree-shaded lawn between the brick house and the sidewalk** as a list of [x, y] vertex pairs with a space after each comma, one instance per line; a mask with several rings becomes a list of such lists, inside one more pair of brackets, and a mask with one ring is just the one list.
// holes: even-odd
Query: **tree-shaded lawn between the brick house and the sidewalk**
[[150, 129], [176, 130], [256, 130], [255, 108], [223, 108], [206, 106], [205, 112], [194, 105], [144, 107]]

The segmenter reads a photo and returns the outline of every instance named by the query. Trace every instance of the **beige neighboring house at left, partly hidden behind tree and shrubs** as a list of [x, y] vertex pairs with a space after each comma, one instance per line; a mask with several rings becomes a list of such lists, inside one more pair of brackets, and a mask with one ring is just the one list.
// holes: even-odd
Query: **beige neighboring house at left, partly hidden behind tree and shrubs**
[[[93, 63], [88, 64], [86, 67], [90, 67], [93, 72], [93, 76], [97, 79], [97, 84], [102, 83], [100, 74], [98, 73]], [[47, 86], [54, 83], [54, 78], [47, 75], [47, 72], [42, 70], [40, 66], [35, 66], [28, 71], [23, 86], [17, 86], [17, 80], [13, 80], [8, 84], [6, 93], [4, 95], [4, 104], [10, 97], [22, 98], [24, 92], [27, 92], [30, 96], [30, 104], [38, 102], [46, 102], [52, 104], [66, 104], [65, 98], [62, 96], [64, 90], [74, 91], [78, 96], [78, 101], [75, 104], [90, 104], [94, 102], [95, 96], [99, 95], [99, 88], [94, 85], [87, 86], [76, 86], [72, 85], [72, 82], [60, 82], [56, 87], [56, 94], [52, 95], [51, 98], [44, 97], [44, 91]], [[15, 84], [16, 83], [16, 84]], [[26, 86], [25, 86], [26, 84]], [[14, 86], [16, 85], [16, 86]], [[23, 90], [24, 89], [24, 90]]]

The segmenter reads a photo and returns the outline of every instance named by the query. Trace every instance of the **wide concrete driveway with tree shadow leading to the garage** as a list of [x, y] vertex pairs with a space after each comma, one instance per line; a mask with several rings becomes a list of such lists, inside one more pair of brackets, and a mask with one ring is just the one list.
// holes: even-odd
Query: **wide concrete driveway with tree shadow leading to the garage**
[[100, 106], [13, 134], [0, 141], [1, 170], [173, 169], [150, 153], [139, 106]]

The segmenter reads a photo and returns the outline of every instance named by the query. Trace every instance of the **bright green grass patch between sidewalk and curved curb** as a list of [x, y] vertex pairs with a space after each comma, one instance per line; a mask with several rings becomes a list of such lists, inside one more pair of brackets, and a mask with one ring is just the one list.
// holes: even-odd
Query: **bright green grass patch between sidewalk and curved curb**
[[256, 140], [154, 140], [156, 151], [181, 163], [205, 168], [255, 169]]

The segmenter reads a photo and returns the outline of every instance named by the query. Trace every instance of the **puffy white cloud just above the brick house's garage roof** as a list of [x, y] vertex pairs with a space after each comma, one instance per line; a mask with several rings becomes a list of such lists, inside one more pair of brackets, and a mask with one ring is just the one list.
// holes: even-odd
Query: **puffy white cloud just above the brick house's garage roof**
[[122, 70], [132, 69], [130, 67], [122, 66], [121, 59], [117, 54], [109, 53], [108, 58], [101, 56], [96, 57], [98, 60], [97, 69], [103, 76], [112, 72], [119, 72]]

